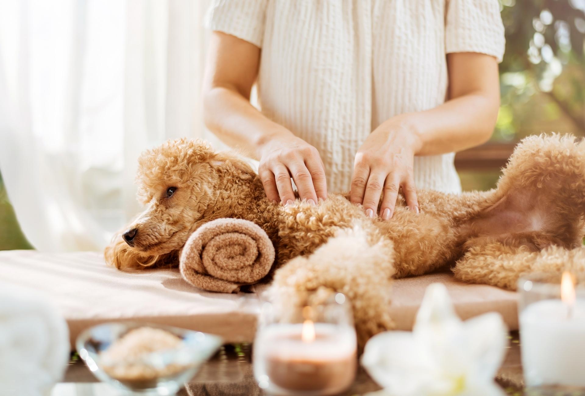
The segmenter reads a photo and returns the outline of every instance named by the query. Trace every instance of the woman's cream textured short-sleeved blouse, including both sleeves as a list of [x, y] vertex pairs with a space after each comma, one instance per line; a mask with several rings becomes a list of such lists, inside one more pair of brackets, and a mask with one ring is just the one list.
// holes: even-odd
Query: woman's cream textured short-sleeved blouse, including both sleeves
[[[315, 146], [329, 192], [385, 120], [446, 100], [446, 54], [498, 62], [498, 0], [212, 0], [206, 24], [261, 48], [261, 112]], [[417, 188], [459, 192], [454, 153], [417, 156]]]

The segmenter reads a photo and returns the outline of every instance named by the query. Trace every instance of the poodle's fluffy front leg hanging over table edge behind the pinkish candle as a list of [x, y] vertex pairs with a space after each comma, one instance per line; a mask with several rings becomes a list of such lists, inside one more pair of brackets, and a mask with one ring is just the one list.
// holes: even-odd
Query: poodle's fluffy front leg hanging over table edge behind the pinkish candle
[[371, 243], [360, 228], [343, 229], [309, 256], [296, 257], [276, 271], [270, 298], [281, 309], [302, 307], [307, 292], [341, 292], [352, 304], [358, 342], [391, 329], [388, 314], [394, 275], [393, 243]]

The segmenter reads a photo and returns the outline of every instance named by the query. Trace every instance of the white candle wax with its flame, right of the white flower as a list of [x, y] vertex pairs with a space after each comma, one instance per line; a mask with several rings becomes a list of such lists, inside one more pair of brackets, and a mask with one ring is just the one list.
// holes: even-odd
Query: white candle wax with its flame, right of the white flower
[[529, 386], [585, 387], [585, 300], [563, 274], [562, 299], [528, 305], [520, 314], [522, 366]]

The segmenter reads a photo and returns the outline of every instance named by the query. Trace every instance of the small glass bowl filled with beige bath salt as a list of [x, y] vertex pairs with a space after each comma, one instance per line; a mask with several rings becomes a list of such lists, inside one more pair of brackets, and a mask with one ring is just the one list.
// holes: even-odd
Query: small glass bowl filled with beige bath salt
[[218, 336], [138, 322], [94, 326], [77, 351], [94, 375], [132, 392], [172, 395], [221, 346]]

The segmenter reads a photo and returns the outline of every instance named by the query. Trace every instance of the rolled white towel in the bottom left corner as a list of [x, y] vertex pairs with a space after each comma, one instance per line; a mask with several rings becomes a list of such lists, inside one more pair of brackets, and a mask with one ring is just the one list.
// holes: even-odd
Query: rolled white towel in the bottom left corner
[[[0, 283], [0, 384], [8, 395], [46, 395], [69, 359], [67, 323], [46, 298]], [[0, 392], [1, 394], [2, 392]]]

